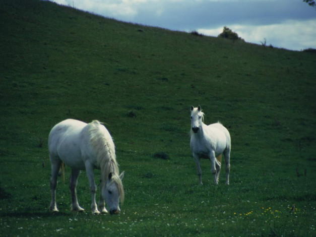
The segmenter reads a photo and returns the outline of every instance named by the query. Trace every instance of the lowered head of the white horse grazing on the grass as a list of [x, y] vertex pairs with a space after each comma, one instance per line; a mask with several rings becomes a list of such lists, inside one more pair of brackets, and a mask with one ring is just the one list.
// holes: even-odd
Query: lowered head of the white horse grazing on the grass
[[124, 190], [121, 180], [123, 179], [124, 171], [118, 176], [109, 173], [105, 187], [102, 189], [102, 197], [107, 203], [110, 214], [119, 214], [119, 198], [121, 203], [124, 201]]

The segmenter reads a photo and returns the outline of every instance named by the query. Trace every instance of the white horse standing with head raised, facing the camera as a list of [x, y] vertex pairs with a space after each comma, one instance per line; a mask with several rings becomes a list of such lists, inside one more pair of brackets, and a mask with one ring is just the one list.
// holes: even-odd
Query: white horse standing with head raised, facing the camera
[[206, 125], [203, 123], [204, 113], [201, 106], [191, 106], [191, 140], [190, 147], [197, 164], [200, 185], [202, 185], [202, 170], [200, 159], [206, 158], [211, 161], [211, 171], [214, 175], [214, 183], [218, 184], [221, 169], [221, 155], [224, 154], [226, 161], [226, 184], [229, 185], [230, 170], [230, 135], [228, 130], [220, 123]]

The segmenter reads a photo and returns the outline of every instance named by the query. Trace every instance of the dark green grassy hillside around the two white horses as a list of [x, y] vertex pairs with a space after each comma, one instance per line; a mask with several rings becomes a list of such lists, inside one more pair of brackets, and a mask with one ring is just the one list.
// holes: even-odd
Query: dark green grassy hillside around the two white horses
[[[314, 53], [36, 0], [2, 0], [0, 29], [1, 235], [316, 234]], [[189, 108], [198, 104], [206, 124], [230, 131], [230, 186], [224, 169], [213, 185], [207, 160], [198, 186], [188, 145]], [[98, 119], [112, 134], [125, 170], [120, 215], [90, 214], [85, 172], [78, 198], [86, 212], [70, 211], [62, 182], [60, 213], [48, 211], [47, 137], [69, 117]]]

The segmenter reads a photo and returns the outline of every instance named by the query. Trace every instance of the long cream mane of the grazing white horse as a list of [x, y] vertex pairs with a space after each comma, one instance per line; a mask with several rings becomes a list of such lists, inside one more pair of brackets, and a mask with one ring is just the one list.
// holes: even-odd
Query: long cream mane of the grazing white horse
[[111, 135], [106, 128], [97, 120], [92, 121], [88, 129], [89, 143], [94, 148], [97, 162], [101, 169], [101, 182], [108, 180], [109, 173], [112, 173], [111, 181], [117, 186], [121, 203], [124, 201], [123, 184], [119, 177], [118, 164], [116, 162], [115, 145]]

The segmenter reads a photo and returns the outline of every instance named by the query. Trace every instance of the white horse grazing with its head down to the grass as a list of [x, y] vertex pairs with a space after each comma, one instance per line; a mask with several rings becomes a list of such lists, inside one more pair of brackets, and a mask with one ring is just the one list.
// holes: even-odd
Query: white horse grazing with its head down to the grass
[[[124, 172], [119, 175], [113, 140], [99, 121], [86, 124], [69, 119], [56, 124], [49, 133], [48, 149], [51, 162], [51, 211], [58, 211], [55, 200], [57, 175], [61, 164], [65, 163], [72, 169], [69, 188], [73, 211], [84, 211], [78, 203], [76, 186], [80, 170], [86, 170], [92, 197], [92, 213], [107, 213], [104, 200], [109, 206], [110, 214], [120, 212], [119, 198], [121, 203], [124, 200], [121, 182]], [[95, 201], [97, 186], [94, 181], [94, 168], [101, 169], [100, 211]]]

